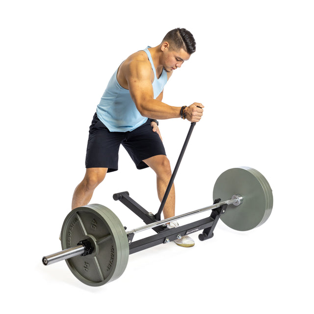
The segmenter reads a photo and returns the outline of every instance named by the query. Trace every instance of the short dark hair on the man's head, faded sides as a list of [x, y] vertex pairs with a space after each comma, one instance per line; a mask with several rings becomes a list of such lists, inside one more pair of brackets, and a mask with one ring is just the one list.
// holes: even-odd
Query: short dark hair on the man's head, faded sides
[[193, 35], [185, 28], [170, 30], [162, 42], [169, 41], [174, 45], [175, 50], [183, 49], [188, 54], [196, 51], [196, 43]]

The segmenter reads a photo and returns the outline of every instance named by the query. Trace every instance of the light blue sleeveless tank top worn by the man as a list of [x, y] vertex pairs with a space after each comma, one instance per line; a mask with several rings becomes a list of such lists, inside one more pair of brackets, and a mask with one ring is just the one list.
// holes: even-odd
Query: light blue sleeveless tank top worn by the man
[[[160, 78], [157, 78], [156, 69], [153, 63], [149, 46], [144, 49], [148, 59], [151, 62], [154, 71], [154, 81], [152, 83], [154, 90], [154, 99], [162, 92], [167, 82], [167, 73], [163, 69]], [[105, 93], [97, 105], [97, 116], [110, 132], [127, 132], [132, 131], [147, 121], [136, 108], [131, 99], [128, 89], [123, 88], [117, 81], [118, 69], [110, 78], [105, 89]]]

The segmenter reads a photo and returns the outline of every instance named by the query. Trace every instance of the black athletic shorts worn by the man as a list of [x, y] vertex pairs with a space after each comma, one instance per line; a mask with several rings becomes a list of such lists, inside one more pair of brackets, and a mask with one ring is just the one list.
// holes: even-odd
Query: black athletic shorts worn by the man
[[166, 155], [159, 135], [152, 131], [150, 119], [133, 131], [110, 132], [95, 113], [89, 128], [86, 168], [108, 168], [108, 172], [118, 170], [120, 144], [127, 150], [137, 169], [148, 167], [144, 159]]

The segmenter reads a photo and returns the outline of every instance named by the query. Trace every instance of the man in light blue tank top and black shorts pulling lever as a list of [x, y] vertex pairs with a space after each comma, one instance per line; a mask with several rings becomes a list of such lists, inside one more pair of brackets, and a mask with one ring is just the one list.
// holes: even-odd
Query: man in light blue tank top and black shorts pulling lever
[[[193, 35], [184, 28], [166, 34], [157, 47], [131, 54], [110, 79], [97, 106], [89, 130], [86, 173], [74, 191], [72, 209], [89, 203], [95, 188], [107, 172], [118, 169], [118, 150], [122, 144], [138, 169], [151, 167], [157, 175], [157, 194], [161, 201], [171, 177], [170, 162], [162, 144], [157, 119], [183, 118], [198, 122], [203, 105], [175, 107], [162, 103], [163, 87], [173, 71], [195, 52]], [[175, 215], [175, 189], [172, 187], [163, 209], [164, 218]], [[169, 227], [176, 227], [171, 223]], [[184, 236], [176, 241], [193, 246]]]

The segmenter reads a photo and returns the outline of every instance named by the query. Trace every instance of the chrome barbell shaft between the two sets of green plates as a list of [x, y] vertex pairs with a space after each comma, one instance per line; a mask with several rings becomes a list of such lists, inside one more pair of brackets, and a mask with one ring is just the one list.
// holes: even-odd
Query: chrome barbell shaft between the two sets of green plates
[[221, 206], [223, 206], [225, 204], [227, 204], [227, 205], [231, 205], [231, 204], [239, 205], [241, 201], [242, 201], [242, 197], [240, 195], [234, 195], [233, 198], [228, 200], [228, 201], [224, 201], [224, 202], [220, 202], [220, 203], [217, 203], [217, 204], [213, 204], [213, 205], [210, 205], [210, 206], [202, 208], [202, 209], [197, 209], [197, 210], [193, 210], [193, 211], [190, 211], [190, 212], [186, 212], [185, 214], [181, 214], [181, 215], [174, 216], [174, 217], [171, 217], [171, 218], [167, 218], [167, 219], [164, 219], [164, 220], [159, 220], [159, 221], [153, 222], [151, 224], [148, 224], [148, 225], [145, 225], [145, 226], [142, 226], [142, 227], [138, 227], [138, 228], [126, 231], [126, 233], [127, 233], [127, 235], [135, 234], [137, 232], [141, 232], [141, 231], [145, 231], [145, 230], [157, 227], [157, 226], [165, 225], [165, 224], [170, 223], [172, 221], [179, 220], [179, 219], [182, 219], [182, 218], [185, 218], [185, 217], [188, 217], [188, 216], [192, 216], [192, 215], [195, 215], [195, 214], [200, 213], [200, 212], [204, 212], [204, 211], [211, 210], [211, 209], [216, 209], [216, 208], [219, 208], [219, 207], [221, 207]]

